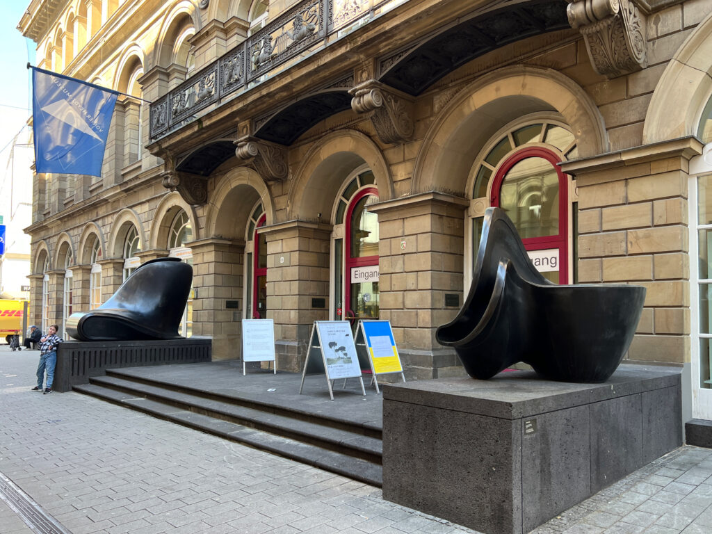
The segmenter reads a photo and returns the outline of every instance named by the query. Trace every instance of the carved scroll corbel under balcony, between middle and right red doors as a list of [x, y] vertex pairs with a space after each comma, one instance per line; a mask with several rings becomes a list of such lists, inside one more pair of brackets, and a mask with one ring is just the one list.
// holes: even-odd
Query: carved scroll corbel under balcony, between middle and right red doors
[[367, 80], [349, 91], [351, 108], [357, 113], [370, 113], [378, 137], [386, 143], [401, 143], [414, 132], [413, 102], [377, 80]]

